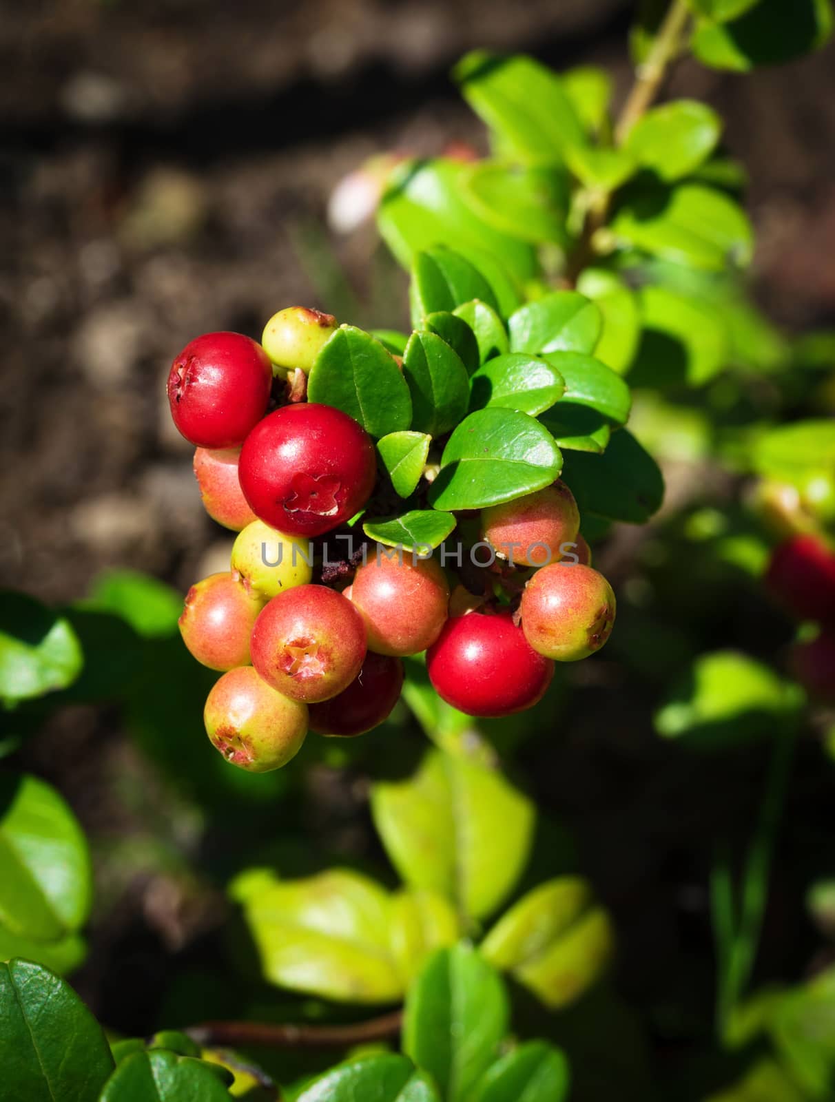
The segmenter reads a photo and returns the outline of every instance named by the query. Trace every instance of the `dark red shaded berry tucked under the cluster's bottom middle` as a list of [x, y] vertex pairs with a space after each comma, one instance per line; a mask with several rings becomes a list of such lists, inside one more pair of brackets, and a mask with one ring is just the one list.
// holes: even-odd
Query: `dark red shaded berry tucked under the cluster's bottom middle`
[[362, 669], [347, 689], [321, 704], [311, 704], [311, 731], [344, 737], [364, 735], [388, 719], [402, 687], [400, 659], [369, 650]]

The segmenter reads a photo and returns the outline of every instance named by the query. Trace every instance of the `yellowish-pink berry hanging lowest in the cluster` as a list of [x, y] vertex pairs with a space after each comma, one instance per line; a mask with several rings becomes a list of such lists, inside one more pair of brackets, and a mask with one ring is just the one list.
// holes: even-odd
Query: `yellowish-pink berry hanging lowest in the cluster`
[[203, 720], [214, 747], [250, 773], [286, 765], [307, 734], [306, 705], [271, 689], [251, 666], [229, 670], [215, 682]]

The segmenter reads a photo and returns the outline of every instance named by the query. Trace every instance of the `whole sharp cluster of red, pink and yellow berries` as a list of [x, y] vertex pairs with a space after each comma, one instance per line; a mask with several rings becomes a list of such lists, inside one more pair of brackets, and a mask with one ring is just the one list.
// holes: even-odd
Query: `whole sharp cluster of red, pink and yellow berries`
[[350, 532], [347, 522], [386, 493], [365, 429], [306, 400], [306, 376], [336, 331], [330, 315], [290, 307], [262, 345], [198, 337], [169, 377], [206, 510], [239, 533], [229, 572], [192, 586], [180, 627], [192, 655], [223, 672], [206, 701], [209, 738], [253, 771], [289, 761], [308, 730], [377, 726], [400, 696], [402, 659], [423, 651], [435, 690], [463, 712], [530, 707], [554, 660], [598, 650], [615, 618], [561, 482], [468, 518], [495, 552], [480, 569], [486, 584], [473, 584], [473, 570], [458, 579], [437, 558], [367, 541], [328, 564], [337, 530]]

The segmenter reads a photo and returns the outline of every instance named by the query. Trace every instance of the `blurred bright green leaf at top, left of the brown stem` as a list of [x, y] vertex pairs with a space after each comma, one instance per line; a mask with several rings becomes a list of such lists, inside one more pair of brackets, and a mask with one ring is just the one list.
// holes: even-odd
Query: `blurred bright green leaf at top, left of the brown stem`
[[473, 110], [498, 134], [502, 150], [519, 160], [553, 164], [567, 147], [585, 141], [560, 77], [532, 57], [475, 50], [453, 75]]

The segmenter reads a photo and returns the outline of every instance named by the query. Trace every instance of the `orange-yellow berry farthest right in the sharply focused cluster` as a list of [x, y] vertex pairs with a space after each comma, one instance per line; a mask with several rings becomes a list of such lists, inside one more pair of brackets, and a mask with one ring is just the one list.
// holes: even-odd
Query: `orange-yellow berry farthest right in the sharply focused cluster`
[[592, 566], [553, 563], [530, 580], [519, 611], [524, 637], [534, 650], [559, 662], [576, 662], [609, 638], [615, 593]]

